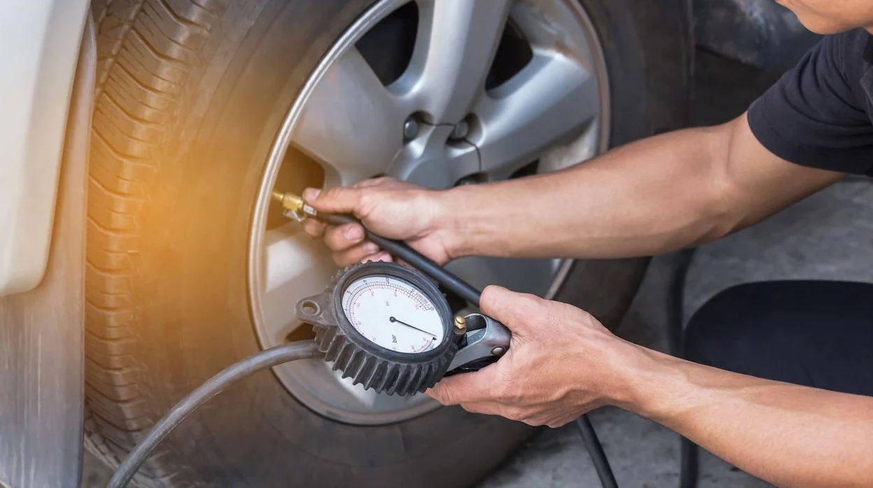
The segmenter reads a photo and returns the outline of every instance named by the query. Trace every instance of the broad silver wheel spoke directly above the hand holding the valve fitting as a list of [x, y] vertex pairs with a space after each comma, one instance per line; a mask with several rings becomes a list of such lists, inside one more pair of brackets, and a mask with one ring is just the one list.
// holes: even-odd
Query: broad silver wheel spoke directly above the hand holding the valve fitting
[[403, 109], [357, 49], [320, 79], [306, 100], [293, 144], [322, 162], [327, 186], [381, 174], [403, 145]]

